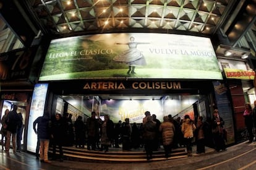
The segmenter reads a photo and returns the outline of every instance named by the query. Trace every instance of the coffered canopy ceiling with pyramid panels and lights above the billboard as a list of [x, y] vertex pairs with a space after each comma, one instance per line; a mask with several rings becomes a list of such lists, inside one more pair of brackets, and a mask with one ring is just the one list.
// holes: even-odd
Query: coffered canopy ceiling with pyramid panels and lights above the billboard
[[228, 0], [35, 0], [30, 12], [54, 35], [171, 30], [214, 34], [235, 1]]

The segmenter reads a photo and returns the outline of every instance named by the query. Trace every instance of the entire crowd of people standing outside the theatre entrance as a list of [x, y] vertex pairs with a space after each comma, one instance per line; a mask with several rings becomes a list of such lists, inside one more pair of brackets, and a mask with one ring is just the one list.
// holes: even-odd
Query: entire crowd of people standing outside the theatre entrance
[[[33, 129], [38, 135], [36, 158], [45, 163], [51, 163], [48, 159], [49, 145], [53, 147], [53, 160], [57, 159], [56, 148], [58, 148], [60, 161], [63, 161], [63, 146], [104, 152], [108, 152], [109, 147], [122, 147], [124, 151], [143, 148], [148, 160], [153, 157], [153, 151], [159, 150], [161, 146], [165, 158], [170, 156], [173, 148], [178, 147], [186, 147], [187, 155], [192, 156], [194, 144], [197, 154], [205, 153], [206, 146], [215, 148], [216, 151], [226, 150], [224, 120], [218, 114], [218, 109], [215, 109], [213, 116], [205, 121], [202, 116], [192, 120], [189, 115], [176, 119], [168, 115], [164, 116], [161, 122], [155, 114], [151, 115], [150, 111], [146, 111], [140, 124], [135, 122], [131, 124], [129, 118], [114, 124], [109, 115], [105, 115], [103, 120], [96, 118], [95, 111], [92, 111], [87, 121], [83, 121], [83, 117], [78, 116], [76, 121], [72, 122], [72, 114], [67, 113], [63, 116], [59, 113], [51, 118], [49, 116], [49, 112], [45, 112], [33, 122]], [[243, 116], [249, 142], [252, 142], [256, 109], [252, 109], [250, 104], [245, 104]], [[19, 151], [22, 116], [17, 113], [17, 106], [14, 106], [12, 111], [6, 109], [1, 124], [2, 149], [5, 148], [5, 151], [9, 152], [12, 139], [14, 153]]]

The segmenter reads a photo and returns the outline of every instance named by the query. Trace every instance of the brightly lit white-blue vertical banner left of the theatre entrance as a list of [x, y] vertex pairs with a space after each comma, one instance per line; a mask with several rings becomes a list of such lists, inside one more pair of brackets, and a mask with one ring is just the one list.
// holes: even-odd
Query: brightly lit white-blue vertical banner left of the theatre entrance
[[37, 135], [33, 130], [33, 122], [39, 116], [43, 116], [46, 95], [48, 91], [47, 83], [38, 83], [35, 85], [32, 102], [30, 106], [30, 114], [28, 118], [28, 138], [27, 138], [27, 150], [35, 153]]

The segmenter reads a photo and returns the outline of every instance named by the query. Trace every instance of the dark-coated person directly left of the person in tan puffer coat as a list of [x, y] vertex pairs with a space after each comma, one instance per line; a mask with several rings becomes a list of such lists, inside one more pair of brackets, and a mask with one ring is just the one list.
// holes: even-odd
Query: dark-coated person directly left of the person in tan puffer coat
[[156, 122], [153, 122], [152, 117], [148, 116], [147, 121], [143, 124], [143, 141], [144, 147], [147, 154], [147, 160], [152, 159], [153, 155], [153, 141], [156, 134]]

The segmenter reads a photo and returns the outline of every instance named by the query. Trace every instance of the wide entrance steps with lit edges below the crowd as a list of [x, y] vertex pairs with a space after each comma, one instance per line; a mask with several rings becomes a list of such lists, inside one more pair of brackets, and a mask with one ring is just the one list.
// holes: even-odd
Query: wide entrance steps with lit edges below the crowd
[[[122, 151], [120, 148], [109, 148], [108, 152], [87, 150], [86, 148], [62, 147], [64, 158], [71, 161], [87, 161], [97, 163], [143, 163], [147, 162], [146, 153], [143, 148], [132, 151]], [[56, 154], [58, 153], [56, 148]], [[53, 153], [49, 148], [49, 155]], [[177, 159], [187, 157], [185, 148], [176, 148], [171, 151], [168, 159]], [[164, 158], [164, 150], [160, 148], [153, 151], [153, 158], [150, 161], [162, 161]]]

